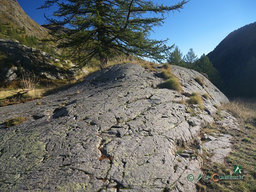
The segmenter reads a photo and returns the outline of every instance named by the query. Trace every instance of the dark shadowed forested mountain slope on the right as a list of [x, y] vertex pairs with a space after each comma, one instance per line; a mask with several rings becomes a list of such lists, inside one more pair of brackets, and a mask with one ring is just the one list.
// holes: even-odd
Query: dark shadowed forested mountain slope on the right
[[207, 55], [230, 96], [256, 97], [256, 22], [230, 33]]

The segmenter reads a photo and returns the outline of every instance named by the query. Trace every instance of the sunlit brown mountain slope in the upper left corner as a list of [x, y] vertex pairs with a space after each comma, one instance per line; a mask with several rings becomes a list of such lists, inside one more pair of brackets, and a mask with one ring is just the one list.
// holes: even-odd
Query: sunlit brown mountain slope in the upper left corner
[[46, 38], [49, 32], [31, 19], [16, 0], [0, 0], [0, 23], [10, 23], [14, 28], [24, 27], [27, 35], [36, 35], [38, 39]]

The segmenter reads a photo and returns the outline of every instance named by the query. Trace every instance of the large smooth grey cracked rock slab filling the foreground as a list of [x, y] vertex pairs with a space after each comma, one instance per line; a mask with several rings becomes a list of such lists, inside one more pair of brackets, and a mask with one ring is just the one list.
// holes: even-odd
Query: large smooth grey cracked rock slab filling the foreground
[[[198, 72], [172, 71], [183, 92], [157, 88], [159, 71], [117, 64], [63, 92], [2, 107], [0, 191], [195, 192], [187, 176], [199, 176], [202, 160], [190, 154], [202, 154], [199, 131], [228, 99]], [[187, 103], [192, 92], [209, 96], [204, 109]], [[15, 117], [24, 122], [7, 126]], [[221, 121], [233, 127], [228, 113]], [[219, 140], [209, 150], [221, 162], [230, 144]], [[181, 146], [191, 150], [178, 155]]]

